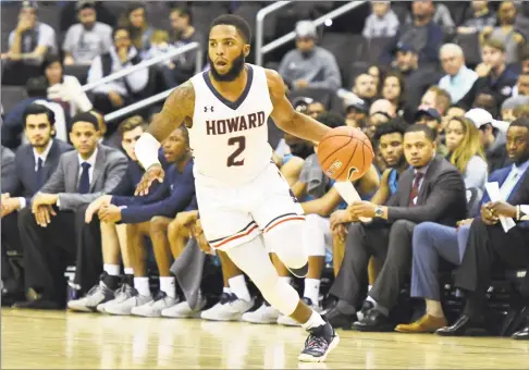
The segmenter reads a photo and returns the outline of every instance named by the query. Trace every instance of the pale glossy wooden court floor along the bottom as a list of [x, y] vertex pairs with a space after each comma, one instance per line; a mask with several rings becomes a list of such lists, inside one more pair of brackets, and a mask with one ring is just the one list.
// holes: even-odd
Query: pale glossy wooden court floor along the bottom
[[2, 369], [529, 369], [529, 342], [340, 331], [299, 365], [299, 328], [3, 309]]

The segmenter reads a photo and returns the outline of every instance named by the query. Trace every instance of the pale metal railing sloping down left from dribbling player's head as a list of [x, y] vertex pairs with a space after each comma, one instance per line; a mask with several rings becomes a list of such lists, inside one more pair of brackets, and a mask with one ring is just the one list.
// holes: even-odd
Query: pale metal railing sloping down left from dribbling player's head
[[189, 44], [187, 44], [187, 45], [185, 45], [181, 48], [177, 48], [175, 50], [172, 50], [168, 53], [145, 60], [145, 61], [143, 61], [143, 62], [136, 64], [136, 65], [132, 65], [127, 69], [122, 70], [122, 71], [112, 73], [111, 75], [108, 75], [107, 77], [103, 77], [103, 78], [96, 81], [91, 84], [86, 84], [86, 85], [83, 86], [83, 91], [89, 91], [97, 86], [100, 86], [100, 85], [110, 83], [112, 81], [122, 78], [122, 77], [130, 75], [131, 73], [139, 71], [142, 69], [146, 69], [146, 67], [149, 67], [151, 65], [165, 62], [170, 59], [173, 59], [176, 55], [184, 54], [184, 53], [189, 52], [189, 51], [196, 51], [196, 53], [197, 53], [195, 70], [196, 70], [196, 73], [199, 73], [202, 69], [202, 59], [204, 59], [202, 58], [202, 50], [200, 48], [200, 44], [189, 42]]

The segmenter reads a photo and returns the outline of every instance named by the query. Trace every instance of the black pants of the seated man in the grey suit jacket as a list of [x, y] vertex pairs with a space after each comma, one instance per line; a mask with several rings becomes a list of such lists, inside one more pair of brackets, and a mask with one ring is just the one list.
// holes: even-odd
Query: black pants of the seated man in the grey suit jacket
[[47, 227], [40, 227], [29, 208], [19, 213], [24, 247], [26, 288], [47, 299], [63, 303], [64, 270], [75, 261], [75, 283], [86, 293], [98, 282], [102, 270], [99, 220], [85, 223], [87, 206], [76, 212], [59, 211]]

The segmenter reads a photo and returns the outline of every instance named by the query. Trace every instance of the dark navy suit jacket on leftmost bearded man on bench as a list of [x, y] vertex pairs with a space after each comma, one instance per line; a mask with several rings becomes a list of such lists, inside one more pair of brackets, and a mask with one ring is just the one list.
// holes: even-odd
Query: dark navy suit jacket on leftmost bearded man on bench
[[[50, 178], [53, 171], [59, 164], [59, 159], [62, 153], [73, 150], [73, 147], [59, 139], [53, 139], [48, 157], [44, 163], [44, 182]], [[39, 190], [37, 185], [37, 173], [35, 172], [35, 156], [33, 153], [33, 146], [29, 144], [23, 145], [16, 151], [16, 196], [26, 198], [26, 205], [29, 205], [32, 197]]]

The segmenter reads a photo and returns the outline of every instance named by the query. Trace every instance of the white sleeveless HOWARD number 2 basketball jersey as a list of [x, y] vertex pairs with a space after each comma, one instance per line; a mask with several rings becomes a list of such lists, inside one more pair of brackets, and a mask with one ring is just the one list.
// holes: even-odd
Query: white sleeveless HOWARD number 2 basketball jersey
[[192, 77], [195, 112], [189, 128], [194, 174], [209, 186], [234, 186], [256, 178], [270, 164], [268, 118], [272, 101], [264, 69], [246, 64], [246, 87], [226, 100], [213, 87], [208, 72]]

